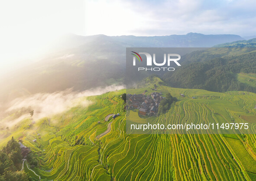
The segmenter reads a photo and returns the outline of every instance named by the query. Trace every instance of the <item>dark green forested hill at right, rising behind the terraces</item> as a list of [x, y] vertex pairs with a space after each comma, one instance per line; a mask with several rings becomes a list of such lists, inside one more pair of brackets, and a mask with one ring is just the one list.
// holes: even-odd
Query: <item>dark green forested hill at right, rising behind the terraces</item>
[[[252, 75], [256, 73], [256, 51], [251, 48], [220, 48], [217, 54], [216, 50], [212, 48], [186, 55], [184, 61], [187, 64], [166, 73], [163, 79], [170, 86], [177, 88], [205, 89], [215, 92], [230, 90], [256, 92], [256, 79], [252, 78], [244, 82], [239, 80], [239, 73], [252, 73]], [[224, 50], [229, 51], [223, 53]], [[223, 54], [220, 53], [221, 51]], [[227, 56], [223, 56], [224, 54]]]

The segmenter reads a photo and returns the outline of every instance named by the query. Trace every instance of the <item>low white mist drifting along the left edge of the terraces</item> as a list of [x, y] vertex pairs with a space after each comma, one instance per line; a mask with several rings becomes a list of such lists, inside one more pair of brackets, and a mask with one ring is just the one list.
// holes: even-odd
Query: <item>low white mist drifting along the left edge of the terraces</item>
[[8, 106], [9, 108], [6, 109], [6, 112], [15, 112], [21, 109], [27, 111], [20, 115], [18, 118], [8, 121], [6, 125], [13, 126], [19, 121], [23, 120], [25, 117], [29, 117], [29, 109], [34, 110], [33, 120], [38, 120], [42, 117], [62, 113], [63, 111], [78, 105], [84, 107], [90, 105], [91, 102], [83, 99], [83, 97], [100, 95], [105, 92], [120, 90], [124, 88], [125, 86], [123, 85], [112, 85], [104, 88], [89, 89], [83, 92], [74, 92], [72, 89], [67, 89], [65, 91], [58, 91], [53, 93], [37, 93], [34, 95], [29, 95], [25, 98], [16, 98], [10, 102], [10, 105]]

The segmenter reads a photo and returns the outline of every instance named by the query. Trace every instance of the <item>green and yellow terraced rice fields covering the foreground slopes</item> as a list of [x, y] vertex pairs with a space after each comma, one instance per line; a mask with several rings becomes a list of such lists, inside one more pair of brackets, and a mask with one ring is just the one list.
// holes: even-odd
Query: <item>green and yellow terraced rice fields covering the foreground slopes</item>
[[[129, 91], [142, 93], [146, 89], [149, 90]], [[218, 93], [160, 85], [157, 89], [164, 94], [170, 92], [178, 102], [166, 114], [152, 117], [156, 122], [229, 122], [233, 118], [255, 124], [254, 93]], [[71, 108], [37, 121], [32, 127], [13, 131], [16, 139], [22, 139], [38, 155], [39, 167], [33, 171], [41, 179], [65, 181], [256, 179], [255, 134], [126, 134], [126, 112], [120, 98], [123, 92], [88, 97], [93, 104], [87, 108]], [[192, 99], [193, 96], [196, 98]], [[120, 116], [111, 120], [111, 131], [96, 139], [107, 130], [110, 122], [104, 118], [112, 113]], [[133, 116], [136, 112], [129, 114]], [[29, 122], [25, 120], [23, 125], [26, 121]], [[254, 125], [251, 129], [255, 128]], [[33, 139], [37, 142], [32, 142]]]

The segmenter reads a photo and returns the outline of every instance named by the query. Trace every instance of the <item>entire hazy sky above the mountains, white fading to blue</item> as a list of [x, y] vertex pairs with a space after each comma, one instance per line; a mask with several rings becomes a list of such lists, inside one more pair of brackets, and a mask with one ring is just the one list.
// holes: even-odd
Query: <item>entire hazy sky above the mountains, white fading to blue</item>
[[0, 67], [65, 33], [256, 35], [255, 9], [255, 0], [1, 0]]

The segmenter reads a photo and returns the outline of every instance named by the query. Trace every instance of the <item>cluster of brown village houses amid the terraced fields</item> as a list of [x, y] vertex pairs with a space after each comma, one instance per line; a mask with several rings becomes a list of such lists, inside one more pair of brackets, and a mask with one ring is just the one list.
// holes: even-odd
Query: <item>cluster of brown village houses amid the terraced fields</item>
[[126, 101], [130, 101], [128, 103], [128, 108], [130, 109], [139, 109], [139, 114], [141, 115], [153, 115], [158, 111], [158, 106], [162, 99], [161, 92], [153, 92], [151, 96], [145, 95], [147, 91], [143, 92], [143, 94], [127, 94]]

